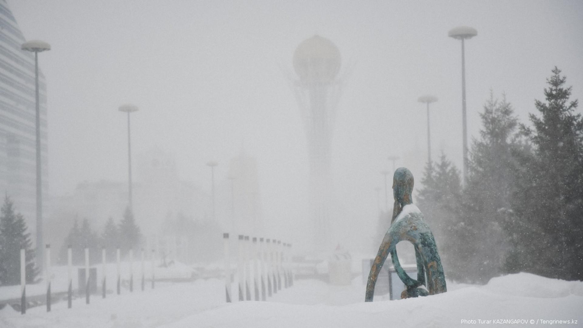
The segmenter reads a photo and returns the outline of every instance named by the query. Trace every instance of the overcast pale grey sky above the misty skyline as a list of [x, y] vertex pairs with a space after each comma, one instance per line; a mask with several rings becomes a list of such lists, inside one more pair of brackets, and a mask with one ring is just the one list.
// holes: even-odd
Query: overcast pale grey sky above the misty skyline
[[[50, 191], [83, 180], [127, 179], [126, 118], [134, 103], [134, 154], [156, 145], [180, 176], [210, 189], [205, 163], [227, 163], [244, 144], [259, 165], [266, 219], [305, 215], [308, 160], [300, 111], [282, 72], [297, 45], [332, 40], [343, 69], [354, 62], [339, 102], [332, 158], [339, 222], [372, 227], [380, 170], [426, 161], [432, 149], [461, 167], [461, 45], [447, 36], [475, 27], [466, 43], [469, 134], [490, 89], [507, 95], [522, 122], [543, 100], [555, 65], [583, 96], [582, 1], [33, 1], [8, 4], [40, 54], [48, 85]], [[581, 110], [578, 110], [581, 112]], [[390, 184], [389, 184], [390, 187]], [[419, 187], [419, 184], [417, 184]], [[281, 213], [284, 214], [281, 214]], [[286, 225], [284, 225], [286, 226]], [[364, 229], [362, 233], [368, 233]]]

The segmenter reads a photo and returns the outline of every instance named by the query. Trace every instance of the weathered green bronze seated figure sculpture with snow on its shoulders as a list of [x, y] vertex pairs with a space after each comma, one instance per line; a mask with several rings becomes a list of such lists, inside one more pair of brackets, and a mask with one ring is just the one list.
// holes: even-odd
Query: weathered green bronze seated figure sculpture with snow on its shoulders
[[[364, 298], [366, 302], [373, 301], [374, 286], [377, 283], [378, 273], [381, 271], [382, 264], [387, 260], [389, 253], [391, 253], [391, 260], [397, 275], [407, 287], [402, 292], [401, 298], [434, 295], [447, 291], [445, 275], [437, 253], [435, 238], [433, 238], [433, 233], [431, 233], [429, 226], [423, 221], [422, 212], [413, 205], [411, 197], [413, 183], [413, 174], [408, 169], [396, 169], [393, 177], [395, 204], [391, 227], [385, 234], [385, 238], [382, 239], [373, 267], [370, 268], [366, 296]], [[415, 248], [417, 261], [416, 280], [409, 277], [401, 267], [401, 263], [399, 263], [395, 247], [401, 240], [407, 240]], [[423, 287], [426, 287], [427, 290]]]

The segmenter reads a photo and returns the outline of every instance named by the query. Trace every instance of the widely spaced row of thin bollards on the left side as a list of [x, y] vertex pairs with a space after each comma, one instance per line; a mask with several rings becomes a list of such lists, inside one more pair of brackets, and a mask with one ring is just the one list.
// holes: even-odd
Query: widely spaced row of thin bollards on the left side
[[[69, 245], [67, 249], [67, 277], [68, 277], [68, 289], [67, 289], [67, 303], [68, 308], [72, 308], [72, 298], [73, 298], [73, 256], [72, 247]], [[134, 250], [129, 250], [129, 291], [134, 291]], [[101, 249], [101, 296], [106, 298], [107, 294], [107, 274], [106, 274], [106, 248]], [[117, 294], [121, 294], [121, 254], [120, 248], [116, 250], [116, 260], [117, 260]], [[146, 271], [145, 271], [145, 252], [142, 249], [142, 291], [146, 286]], [[154, 250], [152, 250], [152, 258], [150, 259], [152, 263], [152, 289], [154, 289]], [[44, 270], [44, 280], [47, 285], [47, 312], [51, 311], [51, 246], [47, 244], [45, 250], [45, 270]], [[90, 274], [89, 274], [89, 248], [85, 248], [85, 303], [90, 303]], [[79, 281], [79, 288], [81, 287], [81, 281]], [[26, 252], [24, 249], [20, 249], [20, 313], [26, 313]]]

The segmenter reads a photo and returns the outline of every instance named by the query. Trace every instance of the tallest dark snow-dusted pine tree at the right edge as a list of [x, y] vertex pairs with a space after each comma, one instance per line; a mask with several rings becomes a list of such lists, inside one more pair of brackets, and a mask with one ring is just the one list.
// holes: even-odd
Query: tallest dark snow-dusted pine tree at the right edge
[[546, 103], [535, 101], [540, 117], [530, 114], [532, 128], [522, 130], [535, 146], [529, 190], [522, 190], [519, 215], [531, 218], [534, 273], [583, 280], [583, 118], [575, 114], [571, 87], [555, 67], [547, 79]]

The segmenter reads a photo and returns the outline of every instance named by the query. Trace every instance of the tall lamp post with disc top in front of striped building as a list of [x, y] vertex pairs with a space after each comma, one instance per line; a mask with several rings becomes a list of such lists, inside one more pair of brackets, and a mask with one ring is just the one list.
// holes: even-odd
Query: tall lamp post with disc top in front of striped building
[[41, 175], [40, 155], [40, 100], [38, 99], [38, 53], [51, 50], [51, 45], [40, 40], [31, 40], [22, 44], [22, 50], [34, 53], [34, 90], [36, 97], [36, 259], [39, 268], [43, 264], [43, 177]]

